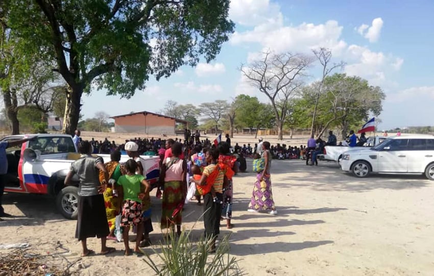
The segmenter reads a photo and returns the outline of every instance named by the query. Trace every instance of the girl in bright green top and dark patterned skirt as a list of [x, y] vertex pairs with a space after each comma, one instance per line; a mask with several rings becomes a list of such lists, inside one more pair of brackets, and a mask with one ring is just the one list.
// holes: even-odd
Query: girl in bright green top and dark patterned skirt
[[[134, 252], [137, 254], [142, 254], [139, 244], [141, 236], [143, 235], [143, 223], [141, 217], [142, 209], [142, 199], [149, 198], [149, 191], [151, 190], [151, 185], [141, 174], [136, 174], [137, 163], [133, 159], [129, 159], [125, 164], [125, 169], [127, 171], [126, 175], [120, 176], [117, 180], [118, 185], [122, 186], [123, 198], [124, 198], [124, 208], [122, 210], [122, 220], [120, 226], [123, 229], [123, 238], [125, 244], [125, 255], [131, 254], [129, 246], [129, 236], [130, 227], [137, 226], [137, 239]], [[144, 186], [144, 193], [140, 191], [141, 186]]]

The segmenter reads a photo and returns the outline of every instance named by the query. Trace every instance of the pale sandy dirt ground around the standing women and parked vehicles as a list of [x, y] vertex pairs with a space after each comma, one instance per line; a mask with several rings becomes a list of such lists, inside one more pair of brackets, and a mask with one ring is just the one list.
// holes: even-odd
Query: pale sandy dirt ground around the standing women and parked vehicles
[[[240, 140], [241, 141], [241, 140]], [[290, 143], [287, 143], [290, 144]], [[299, 144], [299, 142], [297, 142]], [[251, 161], [248, 162], [251, 168]], [[249, 275], [432, 275], [434, 274], [434, 182], [422, 176], [374, 175], [356, 179], [334, 163], [305, 166], [301, 160], [273, 160], [272, 187], [278, 215], [246, 212], [255, 175], [234, 178], [234, 228], [230, 254]], [[155, 192], [152, 192], [155, 195]], [[16, 216], [0, 222], [0, 243], [28, 242], [32, 250], [63, 252], [75, 261], [80, 243], [76, 221], [65, 220], [47, 196], [5, 194], [4, 206]], [[183, 227], [202, 213], [186, 205]], [[152, 248], [161, 240], [161, 204], [153, 198]], [[202, 222], [192, 230], [203, 231]], [[89, 239], [99, 250], [99, 240]], [[123, 244], [109, 241], [112, 255], [93, 256], [73, 269], [82, 275], [153, 274], [140, 258], [123, 256]], [[132, 246], [133, 244], [131, 244]], [[0, 250], [0, 253], [6, 253]], [[85, 267], [85, 268], [83, 268]]]

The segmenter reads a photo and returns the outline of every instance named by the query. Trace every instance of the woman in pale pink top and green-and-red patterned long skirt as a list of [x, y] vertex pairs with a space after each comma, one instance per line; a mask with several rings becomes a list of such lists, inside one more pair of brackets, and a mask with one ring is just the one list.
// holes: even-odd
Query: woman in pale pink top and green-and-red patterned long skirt
[[184, 203], [187, 196], [187, 163], [181, 159], [182, 144], [172, 145], [173, 156], [163, 160], [160, 178], [164, 179], [162, 199], [161, 229], [171, 228], [181, 235], [182, 210], [174, 217], [174, 211]]

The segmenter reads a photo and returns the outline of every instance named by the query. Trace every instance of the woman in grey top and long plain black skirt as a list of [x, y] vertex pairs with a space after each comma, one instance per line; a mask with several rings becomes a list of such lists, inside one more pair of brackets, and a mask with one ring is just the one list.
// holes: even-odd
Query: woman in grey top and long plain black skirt
[[106, 255], [116, 249], [106, 246], [107, 235], [110, 233], [103, 196], [106, 185], [100, 186], [99, 171], [104, 172], [105, 183], [108, 183], [109, 175], [103, 158], [90, 155], [92, 146], [89, 141], [81, 141], [78, 150], [81, 157], [71, 164], [65, 178], [66, 186], [70, 185], [75, 174], [80, 179], [76, 238], [81, 241], [83, 257], [93, 253], [93, 250], [87, 248], [86, 241], [95, 236], [101, 239], [101, 255]]

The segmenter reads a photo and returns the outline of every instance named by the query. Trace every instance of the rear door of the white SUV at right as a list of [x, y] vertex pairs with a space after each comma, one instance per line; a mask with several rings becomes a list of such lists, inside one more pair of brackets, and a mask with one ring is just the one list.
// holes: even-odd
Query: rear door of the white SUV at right
[[422, 173], [425, 171], [426, 139], [409, 139], [407, 154], [407, 172]]

